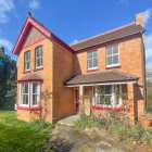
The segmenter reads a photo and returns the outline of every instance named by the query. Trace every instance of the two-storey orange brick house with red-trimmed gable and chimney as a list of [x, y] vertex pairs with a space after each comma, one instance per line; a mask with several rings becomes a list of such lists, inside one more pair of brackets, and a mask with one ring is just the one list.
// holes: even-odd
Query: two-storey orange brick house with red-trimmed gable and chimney
[[[143, 113], [145, 58], [143, 13], [135, 22], [104, 34], [66, 45], [42, 24], [27, 16], [14, 46], [17, 58], [17, 117], [45, 114], [50, 122], [76, 114], [121, 111], [127, 94], [132, 121]], [[52, 92], [46, 102], [42, 94]], [[80, 97], [91, 97], [80, 98]]]

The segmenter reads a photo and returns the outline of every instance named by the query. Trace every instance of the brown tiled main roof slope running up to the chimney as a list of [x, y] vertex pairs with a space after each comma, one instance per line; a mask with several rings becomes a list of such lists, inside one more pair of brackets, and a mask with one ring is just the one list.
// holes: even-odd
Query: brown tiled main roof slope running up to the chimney
[[141, 25], [137, 25], [135, 23], [128, 24], [126, 26], [122, 26], [119, 28], [115, 28], [113, 30], [110, 30], [107, 33], [97, 35], [94, 37], [88, 38], [86, 40], [79, 41], [77, 43], [71, 45], [71, 48], [73, 48], [75, 51], [81, 50], [85, 48], [89, 48], [92, 46], [105, 43], [112, 40], [116, 40], [119, 38], [124, 38], [127, 36], [131, 36], [138, 33], [143, 31], [143, 27]]

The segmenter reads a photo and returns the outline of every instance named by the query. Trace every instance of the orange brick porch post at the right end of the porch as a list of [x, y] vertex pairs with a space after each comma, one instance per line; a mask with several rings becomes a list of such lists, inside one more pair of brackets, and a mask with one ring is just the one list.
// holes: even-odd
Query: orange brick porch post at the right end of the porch
[[128, 101], [127, 101], [127, 107], [129, 107], [129, 118], [130, 124], [135, 124], [136, 121], [136, 103], [135, 103], [135, 91], [134, 91], [134, 84], [128, 84]]

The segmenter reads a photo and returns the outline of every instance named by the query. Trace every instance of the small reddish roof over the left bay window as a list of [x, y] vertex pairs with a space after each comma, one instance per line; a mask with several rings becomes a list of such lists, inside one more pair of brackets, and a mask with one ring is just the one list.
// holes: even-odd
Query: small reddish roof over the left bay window
[[42, 81], [43, 78], [40, 74], [38, 73], [27, 73], [24, 75], [22, 78], [20, 78], [17, 81]]

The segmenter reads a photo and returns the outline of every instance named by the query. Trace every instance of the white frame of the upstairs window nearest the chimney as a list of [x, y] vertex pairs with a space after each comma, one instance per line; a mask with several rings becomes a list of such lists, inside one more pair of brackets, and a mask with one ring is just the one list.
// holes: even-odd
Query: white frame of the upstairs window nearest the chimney
[[[115, 54], [113, 54], [113, 48], [115, 47], [115, 46], [117, 46], [117, 48], [118, 48], [118, 53], [115, 53]], [[112, 49], [112, 54], [111, 55], [107, 55], [107, 48], [111, 48]], [[111, 65], [107, 65], [107, 58], [113, 58], [114, 55], [118, 55], [118, 63], [116, 63], [116, 64], [111, 64]], [[113, 60], [113, 59], [112, 59]], [[121, 64], [119, 64], [119, 45], [113, 45], [113, 46], [109, 46], [109, 47], [106, 47], [106, 67], [113, 67], [113, 66], [119, 66]]]

